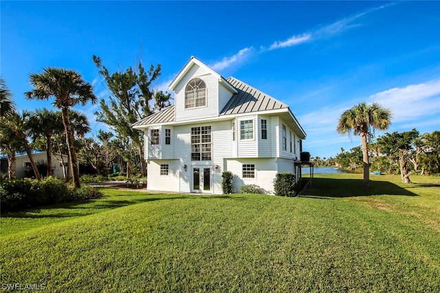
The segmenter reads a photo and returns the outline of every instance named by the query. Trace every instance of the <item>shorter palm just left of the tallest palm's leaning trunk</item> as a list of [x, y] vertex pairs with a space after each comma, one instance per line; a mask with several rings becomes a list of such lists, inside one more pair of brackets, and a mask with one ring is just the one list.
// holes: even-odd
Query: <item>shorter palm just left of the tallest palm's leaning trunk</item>
[[47, 154], [47, 176], [52, 176], [52, 136], [63, 132], [63, 120], [60, 112], [37, 109], [29, 119], [30, 134], [32, 140], [45, 139]]

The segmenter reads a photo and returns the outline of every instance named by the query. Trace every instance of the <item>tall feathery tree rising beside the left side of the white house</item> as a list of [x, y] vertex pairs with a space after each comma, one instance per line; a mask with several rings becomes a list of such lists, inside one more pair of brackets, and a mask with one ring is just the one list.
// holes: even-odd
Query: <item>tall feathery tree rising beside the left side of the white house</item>
[[131, 124], [170, 105], [169, 93], [151, 89], [152, 83], [159, 78], [161, 66], [151, 65], [146, 71], [139, 62], [137, 70], [129, 67], [125, 71], [109, 73], [101, 58], [93, 56], [93, 60], [111, 93], [108, 99], [100, 100], [101, 110], [96, 112], [98, 121], [111, 126], [119, 136], [133, 141], [140, 156], [142, 175], [146, 175], [143, 133], [133, 130]]

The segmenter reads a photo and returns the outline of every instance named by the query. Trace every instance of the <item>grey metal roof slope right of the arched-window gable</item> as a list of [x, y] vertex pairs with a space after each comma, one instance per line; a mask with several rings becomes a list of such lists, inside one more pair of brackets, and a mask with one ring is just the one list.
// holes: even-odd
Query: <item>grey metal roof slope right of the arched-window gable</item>
[[289, 108], [289, 106], [278, 101], [278, 99], [266, 95], [236, 78], [230, 77], [227, 81], [234, 86], [239, 93], [232, 95], [228, 104], [221, 110], [220, 115], [234, 115]]

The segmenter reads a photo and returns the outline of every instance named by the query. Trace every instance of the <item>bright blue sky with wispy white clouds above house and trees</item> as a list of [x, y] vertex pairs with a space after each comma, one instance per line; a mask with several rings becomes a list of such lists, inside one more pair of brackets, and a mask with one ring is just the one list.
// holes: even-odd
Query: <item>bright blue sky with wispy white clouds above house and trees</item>
[[[303, 150], [336, 156], [360, 145], [336, 132], [359, 102], [393, 111], [388, 132], [440, 130], [439, 1], [1, 1], [1, 76], [20, 109], [30, 73], [75, 69], [107, 97], [91, 59], [111, 71], [142, 59], [168, 84], [190, 56], [289, 104]], [[97, 105], [78, 107], [96, 134]], [[380, 135], [382, 132], [377, 132]]]

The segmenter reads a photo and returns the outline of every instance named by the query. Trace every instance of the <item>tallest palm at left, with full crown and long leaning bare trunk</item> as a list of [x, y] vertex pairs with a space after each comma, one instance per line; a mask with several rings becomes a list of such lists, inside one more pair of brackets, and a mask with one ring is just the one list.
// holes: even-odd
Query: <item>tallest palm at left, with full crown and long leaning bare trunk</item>
[[74, 186], [80, 187], [78, 161], [74, 149], [74, 132], [69, 121], [69, 109], [77, 104], [85, 106], [87, 102], [96, 102], [93, 86], [83, 80], [80, 73], [69, 70], [47, 67], [42, 73], [32, 73], [30, 83], [34, 86], [32, 91], [25, 93], [28, 99], [49, 99], [54, 97], [54, 106], [61, 109], [64, 130], [69, 150], [70, 164]]

